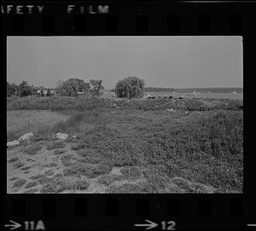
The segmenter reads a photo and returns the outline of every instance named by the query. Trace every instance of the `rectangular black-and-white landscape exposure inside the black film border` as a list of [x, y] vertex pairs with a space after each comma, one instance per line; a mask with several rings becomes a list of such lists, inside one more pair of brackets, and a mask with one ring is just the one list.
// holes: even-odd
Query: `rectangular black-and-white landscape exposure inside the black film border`
[[242, 193], [241, 36], [7, 38], [7, 193]]

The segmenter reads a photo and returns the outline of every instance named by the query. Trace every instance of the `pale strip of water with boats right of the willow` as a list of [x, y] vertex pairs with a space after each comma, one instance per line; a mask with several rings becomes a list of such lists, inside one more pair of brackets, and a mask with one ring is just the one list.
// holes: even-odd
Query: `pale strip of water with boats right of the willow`
[[[151, 96], [170, 96], [173, 97], [179, 97], [180, 95], [183, 95], [184, 98], [212, 98], [212, 99], [230, 99], [230, 100], [242, 100], [243, 94], [242, 93], [201, 93], [201, 94], [193, 94], [191, 93], [182, 93], [182, 92], [176, 92], [172, 93], [170, 91], [163, 91], [163, 92], [157, 92], [157, 91], [150, 91], [148, 92]], [[146, 95], [146, 94], [145, 94]]]

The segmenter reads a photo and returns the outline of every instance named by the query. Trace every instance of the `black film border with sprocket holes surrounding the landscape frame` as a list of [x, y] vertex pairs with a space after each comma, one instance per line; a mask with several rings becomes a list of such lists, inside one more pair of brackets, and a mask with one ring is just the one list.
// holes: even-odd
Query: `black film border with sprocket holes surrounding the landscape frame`
[[[7, 2], [7, 1], [6, 1]], [[9, 5], [25, 5], [8, 1]], [[200, 2], [200, 3], [198, 3]], [[241, 35], [243, 37], [243, 73], [247, 97], [253, 98], [247, 84], [254, 71], [256, 3], [220, 1], [175, 1], [145, 3], [102, 1], [108, 5], [104, 14], [67, 14], [67, 2], [26, 2], [46, 6], [42, 14], [1, 14], [1, 72], [6, 78], [7, 36], [103, 36], [103, 35]], [[81, 2], [72, 2], [79, 5]], [[85, 4], [85, 3], [82, 3]], [[90, 1], [92, 6], [98, 5]], [[254, 9], [254, 11], [253, 11]], [[91, 9], [91, 12], [94, 12]], [[86, 26], [83, 26], [83, 21]], [[54, 25], [54, 26], [53, 26]], [[114, 25], [114, 26], [113, 26]], [[20, 27], [21, 26], [21, 27]], [[23, 28], [22, 28], [23, 27]], [[21, 30], [20, 30], [21, 28]], [[251, 77], [251, 78], [250, 78]], [[2, 81], [5, 79], [2, 78]], [[3, 83], [5, 85], [5, 83]], [[252, 87], [252, 85], [251, 85]], [[251, 95], [248, 92], [252, 92]], [[2, 91], [5, 99], [5, 90]], [[3, 100], [6, 106], [6, 101]], [[6, 123], [6, 120], [4, 121]], [[4, 130], [3, 132], [5, 132]], [[4, 135], [5, 136], [5, 135]], [[247, 137], [244, 150], [250, 150], [253, 137]], [[2, 145], [5, 145], [2, 143]], [[5, 148], [5, 147], [3, 147]], [[253, 149], [252, 149], [253, 150]], [[244, 158], [243, 194], [6, 194], [6, 156], [2, 161], [5, 222], [44, 221], [48, 229], [121, 229], [134, 228], [135, 223], [175, 221], [176, 229], [253, 230], [255, 223], [255, 189], [253, 188], [253, 159]], [[5, 153], [5, 152], [4, 152]], [[69, 220], [63, 219], [68, 217]], [[76, 227], [73, 227], [76, 224]], [[84, 227], [82, 226], [84, 225]]]

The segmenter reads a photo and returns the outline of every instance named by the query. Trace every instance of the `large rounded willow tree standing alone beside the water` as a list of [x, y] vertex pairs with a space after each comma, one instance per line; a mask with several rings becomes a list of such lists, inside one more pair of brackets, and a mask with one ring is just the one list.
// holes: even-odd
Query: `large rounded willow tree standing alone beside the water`
[[116, 95], [118, 97], [139, 98], [143, 97], [144, 81], [142, 78], [127, 77], [119, 80], [115, 85]]

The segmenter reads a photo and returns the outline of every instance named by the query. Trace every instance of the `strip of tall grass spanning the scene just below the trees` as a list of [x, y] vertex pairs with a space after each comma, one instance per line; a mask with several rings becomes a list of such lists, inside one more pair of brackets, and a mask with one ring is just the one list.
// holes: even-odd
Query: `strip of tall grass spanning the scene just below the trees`
[[132, 110], [175, 110], [208, 111], [212, 109], [242, 110], [242, 101], [234, 100], [201, 100], [201, 99], [146, 99], [113, 101], [101, 97], [22, 97], [7, 99], [7, 110], [37, 109], [37, 110], [93, 110], [99, 108], [120, 108]]

